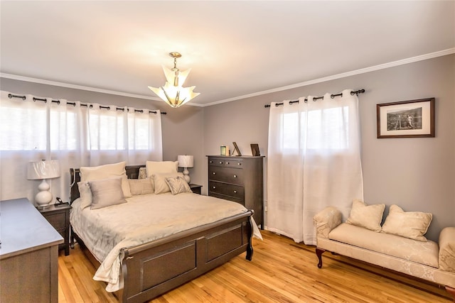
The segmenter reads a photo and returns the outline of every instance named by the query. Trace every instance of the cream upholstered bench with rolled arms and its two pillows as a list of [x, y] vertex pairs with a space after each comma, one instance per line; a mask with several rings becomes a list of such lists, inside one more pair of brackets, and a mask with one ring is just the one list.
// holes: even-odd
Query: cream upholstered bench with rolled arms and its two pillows
[[[455, 227], [444, 228], [438, 244], [423, 236], [431, 214], [406, 213], [398, 206], [391, 206], [390, 218], [380, 226], [384, 204], [371, 206], [375, 206], [375, 211], [373, 207], [368, 211], [370, 206], [355, 200], [346, 223], [342, 223], [341, 211], [333, 206], [314, 216], [318, 267], [322, 267], [322, 254], [328, 250], [443, 285], [455, 302]], [[371, 216], [373, 213], [376, 214]], [[427, 216], [427, 222], [423, 224], [427, 226], [416, 232], [419, 228], [413, 225], [422, 225], [422, 216]], [[371, 221], [375, 221], [374, 224]]]

